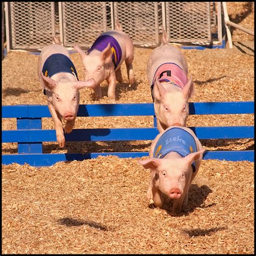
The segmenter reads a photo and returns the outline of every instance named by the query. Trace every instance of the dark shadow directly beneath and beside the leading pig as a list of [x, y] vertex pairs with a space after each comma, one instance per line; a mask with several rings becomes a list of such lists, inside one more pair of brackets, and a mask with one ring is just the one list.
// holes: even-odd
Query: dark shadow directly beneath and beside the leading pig
[[203, 185], [198, 186], [197, 184], [191, 184], [190, 189], [188, 190], [188, 203], [184, 211], [181, 211], [179, 214], [173, 214], [172, 213], [172, 205], [173, 200], [170, 198], [167, 198], [164, 195], [164, 204], [163, 209], [171, 216], [182, 216], [182, 215], [188, 215], [191, 212], [193, 212], [196, 208], [208, 208], [211, 206], [214, 206], [215, 203], [205, 205], [204, 201], [206, 200], [208, 194], [212, 192], [211, 188]]

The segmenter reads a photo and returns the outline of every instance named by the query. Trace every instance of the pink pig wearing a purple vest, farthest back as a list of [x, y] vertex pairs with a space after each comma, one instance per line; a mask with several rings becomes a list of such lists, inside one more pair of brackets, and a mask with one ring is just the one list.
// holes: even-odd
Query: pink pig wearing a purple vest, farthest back
[[120, 66], [125, 60], [127, 76], [130, 84], [134, 84], [133, 73], [133, 43], [129, 36], [122, 31], [122, 26], [116, 21], [116, 30], [110, 30], [100, 34], [91, 48], [84, 52], [75, 43], [73, 48], [79, 53], [84, 65], [84, 79], [94, 79], [95, 99], [102, 98], [100, 83], [105, 79], [109, 85], [107, 96], [110, 100], [116, 100], [116, 83], [122, 83]]

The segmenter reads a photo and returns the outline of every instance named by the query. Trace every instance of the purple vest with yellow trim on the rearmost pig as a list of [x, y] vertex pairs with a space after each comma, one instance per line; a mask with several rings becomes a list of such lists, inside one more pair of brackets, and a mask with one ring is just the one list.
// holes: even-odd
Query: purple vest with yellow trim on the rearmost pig
[[92, 50], [103, 51], [109, 43], [112, 51], [114, 69], [116, 69], [122, 58], [122, 49], [114, 37], [109, 35], [99, 36], [87, 53], [90, 53]]

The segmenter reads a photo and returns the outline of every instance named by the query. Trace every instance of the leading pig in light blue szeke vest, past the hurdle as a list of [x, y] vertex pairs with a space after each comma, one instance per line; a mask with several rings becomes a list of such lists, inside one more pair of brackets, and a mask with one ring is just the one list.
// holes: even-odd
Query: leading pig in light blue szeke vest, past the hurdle
[[159, 133], [150, 146], [149, 159], [138, 160], [151, 171], [147, 189], [150, 205], [162, 207], [165, 194], [173, 199], [173, 214], [184, 210], [188, 189], [198, 173], [204, 151], [199, 139], [188, 127], [171, 126]]

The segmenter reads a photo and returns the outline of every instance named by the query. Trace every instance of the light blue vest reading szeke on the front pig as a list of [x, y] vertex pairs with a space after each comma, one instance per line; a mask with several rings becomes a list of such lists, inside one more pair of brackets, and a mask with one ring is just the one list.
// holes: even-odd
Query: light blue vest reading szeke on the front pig
[[[197, 144], [194, 137], [184, 129], [173, 127], [160, 136], [154, 147], [153, 157], [164, 158], [170, 152], [177, 152], [181, 157], [185, 157], [197, 151]], [[196, 164], [194, 162], [192, 163], [192, 167], [193, 172], [195, 172]]]

